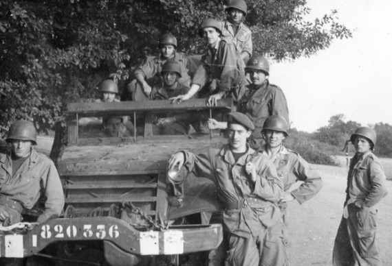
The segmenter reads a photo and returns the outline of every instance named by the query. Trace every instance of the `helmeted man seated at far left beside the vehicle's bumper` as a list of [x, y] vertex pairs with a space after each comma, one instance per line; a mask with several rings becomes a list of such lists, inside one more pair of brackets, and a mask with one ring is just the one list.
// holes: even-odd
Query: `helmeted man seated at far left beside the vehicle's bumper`
[[34, 124], [16, 121], [6, 141], [11, 152], [0, 154], [0, 221], [19, 223], [22, 213], [36, 213], [39, 223], [58, 217], [64, 206], [63, 186], [52, 160], [33, 149]]

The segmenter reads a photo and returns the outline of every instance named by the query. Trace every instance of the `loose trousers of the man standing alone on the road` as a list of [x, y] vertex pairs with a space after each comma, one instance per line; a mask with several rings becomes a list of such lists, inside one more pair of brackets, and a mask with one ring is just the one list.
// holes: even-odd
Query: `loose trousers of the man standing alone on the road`
[[333, 253], [335, 266], [382, 265], [376, 239], [375, 208], [347, 206], [347, 219], [342, 217]]

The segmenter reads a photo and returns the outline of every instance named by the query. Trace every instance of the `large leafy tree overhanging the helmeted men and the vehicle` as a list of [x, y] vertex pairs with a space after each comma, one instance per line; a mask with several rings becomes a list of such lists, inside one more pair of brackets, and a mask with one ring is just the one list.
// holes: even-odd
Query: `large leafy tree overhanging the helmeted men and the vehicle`
[[[0, 0], [0, 136], [16, 119], [40, 131], [63, 121], [70, 101], [91, 98], [105, 77], [132, 69], [172, 32], [179, 49], [202, 53], [206, 17], [224, 19], [228, 0]], [[310, 56], [351, 32], [336, 12], [310, 23], [305, 0], [248, 0], [254, 51], [276, 60]]]

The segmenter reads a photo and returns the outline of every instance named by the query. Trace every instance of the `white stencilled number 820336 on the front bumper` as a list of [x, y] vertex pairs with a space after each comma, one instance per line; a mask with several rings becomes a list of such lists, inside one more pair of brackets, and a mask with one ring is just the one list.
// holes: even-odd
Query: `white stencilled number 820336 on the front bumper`
[[[41, 228], [41, 237], [43, 239], [50, 239], [52, 237], [56, 239], [63, 238], [79, 238], [82, 237], [84, 239], [105, 239], [105, 237], [110, 237], [112, 239], [118, 238], [120, 233], [118, 232], [118, 226], [105, 226], [105, 224], [98, 224], [97, 226], [92, 226], [91, 224], [84, 224], [83, 228], [76, 228], [76, 226], [67, 226], [64, 228], [62, 225], [57, 224], [51, 228], [50, 225], [45, 224]], [[65, 230], [64, 230], [65, 229]], [[79, 235], [81, 233], [81, 236]]]

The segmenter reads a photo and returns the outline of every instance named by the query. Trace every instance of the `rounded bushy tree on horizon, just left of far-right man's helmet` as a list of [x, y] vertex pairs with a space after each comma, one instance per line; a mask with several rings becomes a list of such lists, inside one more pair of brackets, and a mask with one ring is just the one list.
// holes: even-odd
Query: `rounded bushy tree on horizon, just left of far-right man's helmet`
[[344, 114], [332, 116], [327, 126], [319, 128], [315, 132], [315, 138], [323, 143], [343, 147], [351, 134], [360, 127], [360, 123], [354, 121], [345, 122], [343, 119], [345, 119]]

